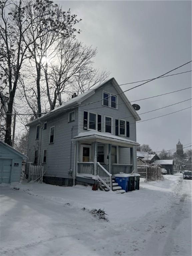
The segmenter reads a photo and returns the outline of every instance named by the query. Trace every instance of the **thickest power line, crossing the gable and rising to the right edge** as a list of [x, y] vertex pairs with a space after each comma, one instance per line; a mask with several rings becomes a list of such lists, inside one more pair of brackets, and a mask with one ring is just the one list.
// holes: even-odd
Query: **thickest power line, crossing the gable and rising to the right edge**
[[[163, 74], [163, 75], [160, 75], [160, 76], [158, 76], [158, 77], [156, 77], [156, 78], [153, 78], [153, 79], [151, 79], [151, 80], [149, 80], [149, 81], [147, 81], [147, 82], [145, 82], [145, 83], [139, 84], [139, 85], [137, 85], [137, 86], [134, 86], [134, 87], [132, 87], [132, 88], [130, 88], [130, 89], [127, 89], [127, 90], [125, 90], [125, 91], [122, 91], [122, 92], [120, 92], [120, 93], [114, 94], [114, 95], [112, 95], [112, 96], [120, 95], [120, 94], [122, 94], [122, 93], [124, 93], [124, 92], [130, 91], [130, 90], [135, 89], [135, 88], [137, 88], [137, 87], [139, 87], [139, 86], [141, 86], [141, 85], [144, 85], [144, 84], [146, 84], [146, 83], [149, 83], [149, 82], [151, 82], [151, 81], [153, 81], [153, 80], [155, 80], [155, 79], [158, 79], [158, 78], [160, 78], [160, 77], [162, 77], [162, 76], [164, 76], [164, 75], [166, 75], [166, 74], [168, 74], [168, 73], [170, 73], [170, 72], [172, 72], [172, 71], [174, 71], [174, 70], [176, 70], [176, 69], [178, 69], [178, 68], [180, 68], [180, 67], [183, 67], [183, 66], [185, 66], [185, 65], [187, 65], [187, 64], [189, 64], [189, 63], [191, 63], [191, 62], [192, 62], [192, 61], [189, 61], [189, 62], [187, 62], [187, 63], [185, 63], [185, 64], [183, 64], [183, 65], [181, 65], [181, 66], [179, 66], [179, 67], [177, 67], [177, 68], [174, 68], [174, 69], [172, 69], [172, 70], [166, 72], [166, 73]], [[111, 96], [108, 96], [108, 97], [106, 97], [105, 99], [110, 98], [110, 97], [111, 97]], [[81, 107], [87, 106], [87, 105], [90, 105], [90, 104], [93, 104], [93, 103], [97, 103], [97, 102], [100, 102], [100, 101], [102, 101], [102, 100], [104, 100], [104, 99], [100, 99], [100, 100], [97, 100], [97, 101], [93, 101], [93, 102], [90, 102], [90, 103], [81, 105]], [[64, 109], [64, 110], [66, 111], [66, 110], [70, 110], [70, 109], [74, 109], [74, 108], [76, 108], [76, 107], [66, 108], [66, 109]], [[53, 112], [57, 112], [57, 111], [62, 111], [62, 110], [55, 110], [55, 111], [53, 111]], [[53, 113], [53, 112], [48, 112], [48, 113]], [[42, 113], [38, 113], [38, 114], [48, 114], [48, 113], [42, 112]], [[11, 114], [11, 113], [7, 113], [7, 114]], [[12, 114], [11, 114], [11, 115], [12, 115]], [[23, 114], [23, 115], [24, 115], [24, 114]], [[27, 114], [27, 115], [34, 115], [34, 113], [32, 113], [32, 114]]]

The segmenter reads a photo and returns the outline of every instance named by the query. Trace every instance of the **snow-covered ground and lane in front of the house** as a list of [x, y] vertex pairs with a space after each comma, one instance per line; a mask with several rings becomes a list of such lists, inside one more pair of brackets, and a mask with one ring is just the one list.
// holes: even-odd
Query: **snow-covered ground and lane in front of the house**
[[[0, 255], [191, 255], [191, 180], [182, 174], [125, 194], [37, 183], [0, 189]], [[104, 209], [109, 221], [83, 207]]]

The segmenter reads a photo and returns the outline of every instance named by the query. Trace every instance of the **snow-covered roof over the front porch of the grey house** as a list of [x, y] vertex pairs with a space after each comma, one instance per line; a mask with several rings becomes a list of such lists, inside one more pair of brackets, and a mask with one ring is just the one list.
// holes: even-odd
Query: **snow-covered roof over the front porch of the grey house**
[[75, 136], [72, 141], [82, 141], [82, 142], [101, 142], [107, 144], [113, 144], [123, 147], [133, 147], [139, 146], [140, 144], [136, 141], [127, 139], [127, 137], [120, 137], [106, 132], [98, 131], [88, 131], [81, 132], [79, 135]]

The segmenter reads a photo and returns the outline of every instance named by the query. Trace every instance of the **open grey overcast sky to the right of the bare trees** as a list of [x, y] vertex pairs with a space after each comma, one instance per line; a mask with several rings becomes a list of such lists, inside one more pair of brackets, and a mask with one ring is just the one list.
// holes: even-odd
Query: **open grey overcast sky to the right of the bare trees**
[[[82, 19], [77, 38], [97, 47], [95, 67], [106, 68], [119, 84], [154, 78], [191, 60], [191, 1], [55, 2]], [[188, 70], [190, 64], [172, 73]], [[132, 101], [189, 86], [191, 72], [157, 79], [125, 94]], [[188, 89], [135, 103], [141, 106], [139, 114], [190, 98]], [[140, 117], [145, 120], [190, 106], [191, 100]], [[137, 124], [137, 141], [154, 151], [175, 148], [178, 139], [183, 145], [191, 142], [191, 108]]]

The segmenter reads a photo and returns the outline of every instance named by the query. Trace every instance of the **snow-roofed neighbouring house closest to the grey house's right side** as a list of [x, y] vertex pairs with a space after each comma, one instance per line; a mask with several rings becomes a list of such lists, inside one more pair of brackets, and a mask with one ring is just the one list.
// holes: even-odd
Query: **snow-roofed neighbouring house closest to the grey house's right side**
[[155, 152], [140, 152], [137, 151], [137, 165], [151, 164], [155, 160], [160, 160]]

